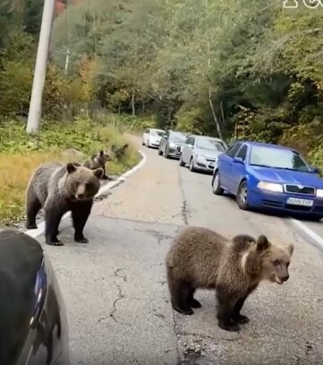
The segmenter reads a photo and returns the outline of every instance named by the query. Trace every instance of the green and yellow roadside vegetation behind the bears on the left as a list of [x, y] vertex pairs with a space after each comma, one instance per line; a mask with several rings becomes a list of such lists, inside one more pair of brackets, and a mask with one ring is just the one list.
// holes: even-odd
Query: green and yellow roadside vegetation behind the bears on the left
[[[22, 123], [0, 125], [0, 224], [22, 218], [27, 182], [40, 163], [68, 161], [66, 150], [70, 149], [83, 152], [87, 158], [102, 148], [111, 150], [112, 146], [120, 148], [125, 143], [125, 137], [116, 127], [102, 127], [89, 119], [46, 122], [37, 136], [27, 135]], [[107, 171], [109, 175], [121, 174], [139, 160], [135, 147], [129, 145], [123, 156], [108, 162]]]

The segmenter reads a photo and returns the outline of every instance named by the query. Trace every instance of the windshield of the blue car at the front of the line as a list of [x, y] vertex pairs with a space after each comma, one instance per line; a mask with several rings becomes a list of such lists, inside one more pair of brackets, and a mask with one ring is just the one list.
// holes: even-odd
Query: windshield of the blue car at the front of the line
[[274, 169], [310, 172], [309, 165], [304, 161], [300, 153], [283, 148], [252, 146], [249, 164]]

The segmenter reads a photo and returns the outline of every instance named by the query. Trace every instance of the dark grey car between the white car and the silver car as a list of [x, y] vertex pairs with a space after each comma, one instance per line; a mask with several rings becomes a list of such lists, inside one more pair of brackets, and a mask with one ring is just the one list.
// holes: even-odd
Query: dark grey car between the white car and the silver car
[[185, 145], [187, 137], [188, 133], [169, 129], [162, 136], [161, 143], [158, 147], [158, 154], [160, 156], [163, 154], [166, 159], [170, 157], [179, 159], [181, 149]]

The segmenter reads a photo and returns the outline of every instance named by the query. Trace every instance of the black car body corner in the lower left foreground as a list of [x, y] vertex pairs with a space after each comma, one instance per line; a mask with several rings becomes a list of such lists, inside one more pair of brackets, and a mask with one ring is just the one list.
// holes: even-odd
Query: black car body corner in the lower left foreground
[[0, 230], [0, 363], [70, 363], [65, 304], [39, 242]]

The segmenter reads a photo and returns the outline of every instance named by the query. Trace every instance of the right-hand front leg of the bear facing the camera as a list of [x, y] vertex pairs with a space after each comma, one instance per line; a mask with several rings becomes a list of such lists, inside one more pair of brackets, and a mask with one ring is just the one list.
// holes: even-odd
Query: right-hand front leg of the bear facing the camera
[[93, 201], [76, 202], [72, 206], [72, 219], [74, 223], [74, 241], [88, 243], [89, 240], [83, 236], [84, 226], [92, 210]]

